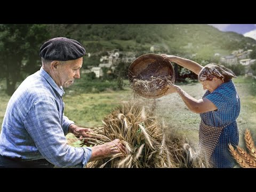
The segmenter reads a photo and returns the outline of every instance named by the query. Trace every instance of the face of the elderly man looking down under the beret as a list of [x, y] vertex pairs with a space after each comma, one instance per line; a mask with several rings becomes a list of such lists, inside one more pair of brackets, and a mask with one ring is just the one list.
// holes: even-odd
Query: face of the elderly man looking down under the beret
[[69, 60], [59, 64], [57, 70], [56, 83], [58, 86], [68, 87], [74, 83], [75, 78], [80, 78], [80, 69], [83, 64], [83, 58]]

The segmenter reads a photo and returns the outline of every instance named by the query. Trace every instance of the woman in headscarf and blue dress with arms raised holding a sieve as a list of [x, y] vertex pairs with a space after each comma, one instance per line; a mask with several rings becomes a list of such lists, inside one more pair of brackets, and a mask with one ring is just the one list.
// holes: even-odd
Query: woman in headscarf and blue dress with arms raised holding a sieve
[[207, 90], [202, 99], [194, 99], [177, 85], [169, 85], [166, 94], [177, 92], [189, 110], [200, 114], [199, 146], [213, 167], [234, 167], [235, 161], [228, 143], [238, 145], [236, 119], [240, 113], [240, 99], [231, 78], [235, 74], [220, 65], [210, 63], [205, 67], [195, 61], [174, 55], [162, 56], [198, 75], [198, 81]]

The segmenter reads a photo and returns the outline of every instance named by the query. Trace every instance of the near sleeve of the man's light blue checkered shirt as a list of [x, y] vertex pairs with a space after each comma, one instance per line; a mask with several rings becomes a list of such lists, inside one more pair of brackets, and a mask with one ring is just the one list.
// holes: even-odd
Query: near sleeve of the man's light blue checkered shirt
[[[63, 124], [66, 126], [70, 122], [66, 119]], [[89, 161], [90, 148], [72, 147], [67, 144], [54, 101], [35, 102], [28, 111], [24, 125], [39, 152], [50, 163], [59, 167], [84, 167]]]

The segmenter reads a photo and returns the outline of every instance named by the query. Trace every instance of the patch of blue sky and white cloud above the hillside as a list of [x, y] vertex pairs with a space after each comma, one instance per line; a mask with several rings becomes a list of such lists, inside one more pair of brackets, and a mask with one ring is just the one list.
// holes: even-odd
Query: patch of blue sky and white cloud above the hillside
[[233, 31], [256, 40], [256, 24], [209, 24], [221, 31]]

